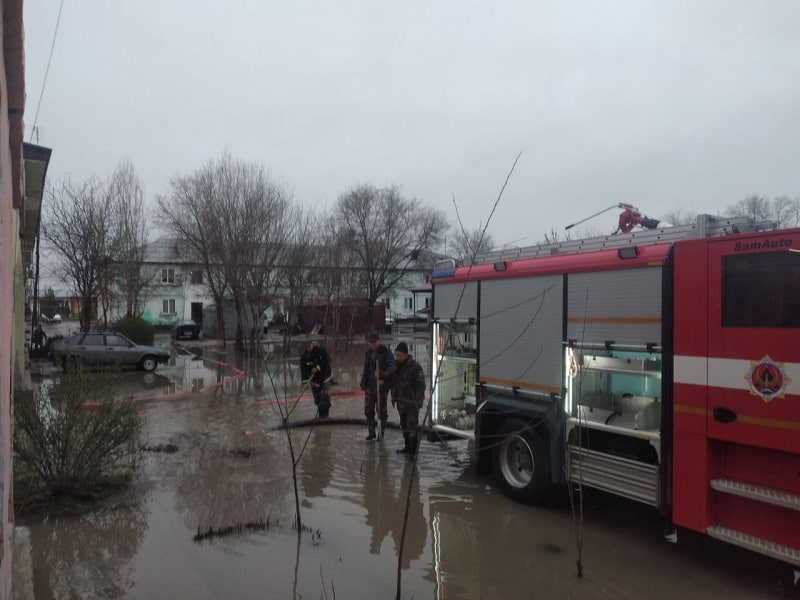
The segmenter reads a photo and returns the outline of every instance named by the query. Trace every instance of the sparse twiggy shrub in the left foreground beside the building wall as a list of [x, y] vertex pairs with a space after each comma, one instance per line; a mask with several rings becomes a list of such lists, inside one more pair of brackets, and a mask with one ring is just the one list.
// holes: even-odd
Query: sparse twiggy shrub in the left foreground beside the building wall
[[107, 383], [71, 370], [14, 405], [15, 475], [45, 497], [91, 498], [137, 465], [142, 419]]

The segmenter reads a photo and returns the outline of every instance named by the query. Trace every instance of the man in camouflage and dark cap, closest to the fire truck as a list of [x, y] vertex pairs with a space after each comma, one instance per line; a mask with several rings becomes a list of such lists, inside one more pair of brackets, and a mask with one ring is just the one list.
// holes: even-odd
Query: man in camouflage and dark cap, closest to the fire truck
[[392, 404], [397, 405], [400, 415], [405, 445], [397, 452], [414, 460], [419, 445], [419, 409], [422, 408], [425, 398], [425, 373], [422, 365], [408, 353], [405, 342], [397, 344], [394, 358], [394, 363], [383, 374], [382, 379], [391, 386]]

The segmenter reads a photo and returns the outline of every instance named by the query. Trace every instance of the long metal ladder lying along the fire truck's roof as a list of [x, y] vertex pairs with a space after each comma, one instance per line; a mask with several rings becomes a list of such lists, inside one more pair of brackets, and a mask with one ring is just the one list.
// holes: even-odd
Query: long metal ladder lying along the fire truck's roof
[[698, 215], [697, 220], [689, 225], [659, 227], [656, 229], [640, 229], [628, 233], [617, 233], [550, 244], [537, 244], [522, 248], [506, 248], [491, 250], [475, 257], [473, 264], [491, 263], [501, 260], [518, 260], [553, 254], [578, 254], [595, 252], [623, 246], [671, 244], [677, 240], [731, 235], [750, 231], [773, 229], [774, 223], [754, 222], [750, 217], [714, 217]]

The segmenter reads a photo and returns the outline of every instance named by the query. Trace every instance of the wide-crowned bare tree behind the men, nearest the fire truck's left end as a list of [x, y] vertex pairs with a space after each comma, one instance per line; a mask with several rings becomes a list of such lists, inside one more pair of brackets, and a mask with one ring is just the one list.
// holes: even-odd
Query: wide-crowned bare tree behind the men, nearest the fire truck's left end
[[448, 229], [444, 213], [407, 200], [396, 186], [352, 188], [339, 197], [334, 220], [363, 270], [369, 323], [377, 299], [403, 278], [420, 252], [437, 247]]

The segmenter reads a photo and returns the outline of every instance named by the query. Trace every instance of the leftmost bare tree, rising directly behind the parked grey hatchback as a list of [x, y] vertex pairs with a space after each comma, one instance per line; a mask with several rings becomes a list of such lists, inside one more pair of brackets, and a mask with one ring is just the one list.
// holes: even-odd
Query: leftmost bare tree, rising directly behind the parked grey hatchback
[[83, 183], [63, 179], [48, 190], [46, 206], [42, 234], [60, 259], [56, 273], [81, 300], [80, 326], [87, 331], [97, 298], [106, 295], [113, 256], [108, 186], [96, 178]]

